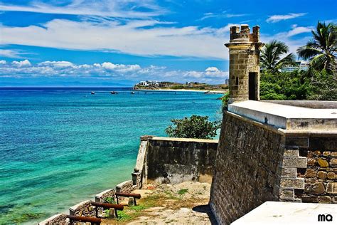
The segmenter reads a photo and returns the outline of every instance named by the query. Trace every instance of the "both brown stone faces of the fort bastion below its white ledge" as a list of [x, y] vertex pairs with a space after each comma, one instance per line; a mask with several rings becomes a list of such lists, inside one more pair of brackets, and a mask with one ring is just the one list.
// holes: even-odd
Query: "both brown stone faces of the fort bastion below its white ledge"
[[219, 224], [266, 201], [337, 203], [337, 133], [282, 130], [225, 112], [210, 194]]

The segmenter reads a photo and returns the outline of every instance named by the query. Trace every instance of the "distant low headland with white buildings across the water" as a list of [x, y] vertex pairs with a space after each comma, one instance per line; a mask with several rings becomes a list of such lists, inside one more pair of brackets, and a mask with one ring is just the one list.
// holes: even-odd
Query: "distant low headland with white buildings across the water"
[[228, 85], [211, 85], [198, 82], [175, 83], [168, 81], [146, 80], [140, 81], [134, 85], [134, 90], [193, 90], [213, 93], [226, 93], [228, 92]]

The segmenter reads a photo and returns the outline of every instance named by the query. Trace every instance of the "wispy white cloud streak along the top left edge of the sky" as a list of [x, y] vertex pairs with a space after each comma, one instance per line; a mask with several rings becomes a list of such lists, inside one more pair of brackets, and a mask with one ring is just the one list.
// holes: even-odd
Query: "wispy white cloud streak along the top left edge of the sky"
[[[54, 1], [55, 2], [55, 1]], [[146, 9], [138, 10], [137, 9]], [[166, 13], [155, 1], [151, 0], [73, 0], [70, 4], [59, 6], [32, 1], [28, 6], [4, 4], [0, 2], [0, 11], [26, 11], [41, 14], [68, 14], [117, 18], [148, 18]]]

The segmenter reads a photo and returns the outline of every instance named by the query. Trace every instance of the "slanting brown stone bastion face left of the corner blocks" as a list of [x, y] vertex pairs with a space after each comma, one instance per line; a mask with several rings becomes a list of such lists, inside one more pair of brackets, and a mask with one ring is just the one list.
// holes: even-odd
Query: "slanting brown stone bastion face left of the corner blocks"
[[279, 199], [284, 137], [225, 112], [210, 193], [219, 224]]

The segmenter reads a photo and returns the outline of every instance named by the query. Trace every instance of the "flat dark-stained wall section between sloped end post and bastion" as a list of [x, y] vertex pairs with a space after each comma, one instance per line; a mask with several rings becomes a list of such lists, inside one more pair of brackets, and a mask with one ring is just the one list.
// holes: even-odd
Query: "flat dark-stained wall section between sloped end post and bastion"
[[153, 137], [146, 154], [152, 182], [211, 182], [218, 140]]

